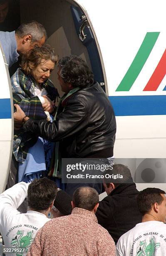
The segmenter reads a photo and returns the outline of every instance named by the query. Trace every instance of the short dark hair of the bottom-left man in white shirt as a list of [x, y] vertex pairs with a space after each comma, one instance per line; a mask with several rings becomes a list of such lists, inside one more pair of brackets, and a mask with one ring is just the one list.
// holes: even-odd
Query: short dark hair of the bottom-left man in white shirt
[[44, 177], [35, 179], [28, 187], [28, 206], [34, 210], [42, 211], [48, 209], [57, 195], [55, 182]]

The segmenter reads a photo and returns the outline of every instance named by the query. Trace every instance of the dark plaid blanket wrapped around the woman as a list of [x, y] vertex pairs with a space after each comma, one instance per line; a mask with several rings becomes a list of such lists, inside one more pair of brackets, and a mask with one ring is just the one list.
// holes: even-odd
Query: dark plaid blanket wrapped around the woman
[[[42, 104], [35, 96], [36, 82], [31, 75], [26, 76], [19, 68], [11, 77], [13, 104], [19, 104], [22, 110], [30, 118], [47, 119]], [[41, 87], [47, 91], [51, 100], [59, 97], [57, 89], [48, 79]], [[21, 128], [14, 133], [13, 154], [18, 162], [23, 163], [26, 159], [28, 149], [37, 141], [37, 136], [31, 132], [25, 132]]]

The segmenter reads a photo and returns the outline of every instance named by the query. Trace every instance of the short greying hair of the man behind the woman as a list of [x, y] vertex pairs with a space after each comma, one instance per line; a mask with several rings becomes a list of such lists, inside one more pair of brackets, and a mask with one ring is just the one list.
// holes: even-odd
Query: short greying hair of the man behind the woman
[[18, 37], [24, 37], [26, 35], [32, 36], [32, 42], [39, 41], [43, 36], [47, 40], [47, 32], [42, 24], [32, 20], [28, 23], [22, 23], [15, 31]]

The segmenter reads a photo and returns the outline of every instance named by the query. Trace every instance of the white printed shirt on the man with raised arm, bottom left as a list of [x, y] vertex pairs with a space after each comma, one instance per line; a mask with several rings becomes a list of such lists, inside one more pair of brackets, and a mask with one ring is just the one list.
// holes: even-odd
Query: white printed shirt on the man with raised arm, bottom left
[[27, 254], [37, 231], [50, 220], [40, 212], [21, 213], [17, 210], [27, 197], [29, 184], [20, 182], [0, 195], [0, 233], [5, 247], [25, 248], [24, 255]]

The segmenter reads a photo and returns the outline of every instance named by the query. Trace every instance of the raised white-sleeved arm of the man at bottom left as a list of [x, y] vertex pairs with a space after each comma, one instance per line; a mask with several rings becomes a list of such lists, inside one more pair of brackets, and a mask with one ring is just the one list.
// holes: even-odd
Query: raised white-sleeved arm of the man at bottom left
[[6, 221], [7, 216], [13, 216], [14, 213], [17, 214], [19, 212], [17, 208], [27, 197], [29, 184], [20, 182], [0, 195], [0, 224]]

